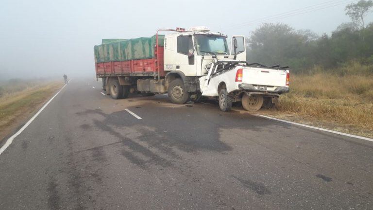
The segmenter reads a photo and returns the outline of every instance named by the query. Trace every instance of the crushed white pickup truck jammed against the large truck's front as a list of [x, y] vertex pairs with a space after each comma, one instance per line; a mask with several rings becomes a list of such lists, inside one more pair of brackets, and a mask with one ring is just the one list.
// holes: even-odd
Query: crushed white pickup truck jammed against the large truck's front
[[215, 58], [205, 66], [208, 74], [199, 78], [201, 93], [218, 97], [221, 111], [229, 111], [233, 102], [241, 101], [246, 110], [254, 112], [289, 91], [287, 68]]

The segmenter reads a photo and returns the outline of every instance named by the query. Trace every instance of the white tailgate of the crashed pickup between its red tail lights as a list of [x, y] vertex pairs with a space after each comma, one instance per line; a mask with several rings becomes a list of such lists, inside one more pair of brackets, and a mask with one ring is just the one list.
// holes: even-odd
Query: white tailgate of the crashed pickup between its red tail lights
[[261, 86], [286, 86], [286, 70], [247, 67], [242, 72], [242, 83]]

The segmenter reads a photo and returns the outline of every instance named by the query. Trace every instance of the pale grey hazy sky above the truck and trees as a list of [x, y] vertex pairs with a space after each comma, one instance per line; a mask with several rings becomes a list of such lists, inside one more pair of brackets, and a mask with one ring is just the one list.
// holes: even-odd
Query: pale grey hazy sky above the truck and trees
[[[249, 35], [265, 18], [295, 29], [330, 33], [349, 22], [348, 0], [1, 0], [0, 79], [94, 77], [93, 46], [102, 38], [151, 36], [157, 28], [205, 25], [227, 35]], [[287, 18], [271, 16], [319, 4]], [[309, 9], [309, 8], [308, 8]], [[291, 13], [303, 13], [297, 10]], [[269, 18], [266, 18], [269, 17]], [[286, 16], [285, 16], [286, 17]], [[373, 21], [372, 13], [367, 22]]]

